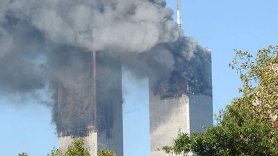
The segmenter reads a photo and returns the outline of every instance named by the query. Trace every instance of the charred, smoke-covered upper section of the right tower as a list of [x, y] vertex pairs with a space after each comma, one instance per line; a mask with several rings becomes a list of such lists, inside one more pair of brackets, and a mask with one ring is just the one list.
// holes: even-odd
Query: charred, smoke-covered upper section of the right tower
[[194, 40], [183, 37], [168, 46], [174, 56], [174, 69], [170, 78], [152, 84], [154, 95], [161, 99], [179, 98], [183, 94], [212, 96], [211, 52], [194, 44]]

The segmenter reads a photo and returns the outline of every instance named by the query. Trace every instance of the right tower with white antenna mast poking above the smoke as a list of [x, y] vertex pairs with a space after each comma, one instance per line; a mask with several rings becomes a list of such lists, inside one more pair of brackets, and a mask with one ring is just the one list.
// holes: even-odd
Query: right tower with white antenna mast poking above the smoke
[[[177, 0], [179, 27], [181, 22], [181, 0]], [[157, 84], [149, 81], [151, 156], [164, 156], [165, 153], [158, 148], [172, 146], [173, 140], [181, 132], [192, 135], [194, 132], [204, 132], [206, 127], [213, 125], [211, 49], [206, 49], [206, 55], [207, 59], [202, 60], [204, 64], [200, 66], [205, 69], [202, 74], [206, 80], [191, 84], [180, 83], [185, 82], [186, 77], [183, 73], [176, 73], [172, 82]], [[198, 64], [193, 64], [196, 65]], [[208, 85], [199, 88], [204, 81]]]

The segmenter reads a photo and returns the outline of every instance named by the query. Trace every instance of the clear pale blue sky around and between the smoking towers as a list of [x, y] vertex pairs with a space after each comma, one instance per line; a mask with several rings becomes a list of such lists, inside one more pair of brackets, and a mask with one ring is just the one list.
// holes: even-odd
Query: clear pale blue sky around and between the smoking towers
[[[167, 6], [176, 9], [176, 1]], [[211, 49], [213, 69], [213, 113], [239, 96], [240, 81], [228, 67], [234, 49], [255, 54], [269, 44], [278, 44], [277, 0], [181, 0], [182, 29], [186, 36]], [[176, 19], [174, 15], [174, 20]], [[1, 69], [0, 69], [1, 70]], [[135, 80], [123, 74], [124, 155], [149, 155], [147, 79]], [[50, 108], [36, 103], [13, 107], [0, 95], [0, 150], [3, 156], [26, 152], [47, 155], [58, 146]]]

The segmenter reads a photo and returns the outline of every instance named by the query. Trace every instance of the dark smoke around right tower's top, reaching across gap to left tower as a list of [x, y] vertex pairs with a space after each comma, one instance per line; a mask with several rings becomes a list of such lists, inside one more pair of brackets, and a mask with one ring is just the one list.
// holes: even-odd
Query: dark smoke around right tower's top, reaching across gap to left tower
[[[189, 92], [212, 96], [211, 52], [191, 37], [180, 37], [173, 43], [157, 44], [145, 53], [122, 57], [123, 64], [138, 78], [149, 78], [154, 94], [161, 94], [161, 98]], [[167, 92], [161, 92], [163, 89]]]

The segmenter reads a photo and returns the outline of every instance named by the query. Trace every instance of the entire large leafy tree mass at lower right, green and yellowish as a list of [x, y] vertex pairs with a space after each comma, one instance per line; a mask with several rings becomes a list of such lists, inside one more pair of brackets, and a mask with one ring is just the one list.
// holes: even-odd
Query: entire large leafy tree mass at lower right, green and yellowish
[[183, 134], [169, 154], [197, 155], [278, 155], [278, 46], [259, 50], [256, 58], [236, 50], [230, 65], [239, 73], [242, 96], [221, 110], [218, 123], [205, 133]]

